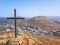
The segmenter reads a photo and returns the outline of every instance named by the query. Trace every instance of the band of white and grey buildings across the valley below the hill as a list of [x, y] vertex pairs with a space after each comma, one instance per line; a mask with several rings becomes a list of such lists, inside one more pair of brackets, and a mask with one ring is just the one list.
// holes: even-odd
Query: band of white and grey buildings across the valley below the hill
[[[60, 36], [59, 30], [43, 31], [34, 28], [32, 26], [17, 26], [17, 29], [18, 29], [17, 31], [19, 32], [26, 32], [36, 35]], [[14, 31], [14, 26], [12, 24], [2, 25], [2, 26], [0, 25], [0, 33], [13, 32], [13, 31]]]

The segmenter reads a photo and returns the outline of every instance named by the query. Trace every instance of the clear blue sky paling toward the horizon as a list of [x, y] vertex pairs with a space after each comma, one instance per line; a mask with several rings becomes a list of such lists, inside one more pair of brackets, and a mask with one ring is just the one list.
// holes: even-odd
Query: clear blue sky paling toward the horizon
[[0, 17], [60, 16], [60, 0], [0, 0]]

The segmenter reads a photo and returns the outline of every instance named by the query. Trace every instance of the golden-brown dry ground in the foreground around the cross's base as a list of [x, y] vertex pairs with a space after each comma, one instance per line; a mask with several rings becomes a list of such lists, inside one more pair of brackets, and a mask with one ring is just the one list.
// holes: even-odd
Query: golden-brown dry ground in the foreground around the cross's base
[[[16, 45], [60, 45], [60, 37], [39, 36], [18, 32], [19, 42]], [[0, 34], [0, 45], [5, 45], [6, 42], [14, 37], [13, 32]], [[17, 43], [17, 42], [15, 42]]]

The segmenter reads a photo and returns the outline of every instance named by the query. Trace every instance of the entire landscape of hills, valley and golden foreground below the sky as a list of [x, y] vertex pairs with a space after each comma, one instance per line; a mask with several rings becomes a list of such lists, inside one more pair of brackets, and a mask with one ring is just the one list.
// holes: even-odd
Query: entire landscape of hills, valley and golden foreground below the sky
[[17, 20], [14, 31], [14, 20], [1, 18], [0, 45], [60, 45], [60, 24], [45, 16]]

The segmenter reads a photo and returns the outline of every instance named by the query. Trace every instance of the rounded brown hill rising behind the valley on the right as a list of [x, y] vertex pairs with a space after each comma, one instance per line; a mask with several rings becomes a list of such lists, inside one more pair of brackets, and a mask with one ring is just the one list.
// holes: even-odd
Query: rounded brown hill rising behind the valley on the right
[[32, 26], [42, 31], [60, 30], [60, 25], [45, 16], [36, 16], [24, 22], [25, 26]]

